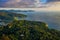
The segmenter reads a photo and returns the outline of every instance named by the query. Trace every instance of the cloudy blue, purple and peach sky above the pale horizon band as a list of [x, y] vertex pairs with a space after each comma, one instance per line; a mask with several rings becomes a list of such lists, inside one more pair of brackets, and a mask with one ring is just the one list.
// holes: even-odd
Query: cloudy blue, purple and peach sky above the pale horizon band
[[60, 8], [60, 0], [0, 0], [0, 8]]

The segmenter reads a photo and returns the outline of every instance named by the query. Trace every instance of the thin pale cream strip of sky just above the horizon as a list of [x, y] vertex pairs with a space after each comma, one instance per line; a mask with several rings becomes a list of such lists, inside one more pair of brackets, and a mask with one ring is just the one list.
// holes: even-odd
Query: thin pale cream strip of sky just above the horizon
[[58, 8], [0, 8], [0, 10], [60, 11]]

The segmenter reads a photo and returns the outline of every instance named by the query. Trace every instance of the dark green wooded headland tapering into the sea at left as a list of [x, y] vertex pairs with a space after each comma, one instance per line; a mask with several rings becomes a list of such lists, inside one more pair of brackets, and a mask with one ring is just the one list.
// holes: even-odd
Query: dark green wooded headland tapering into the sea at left
[[27, 17], [26, 15], [24, 14], [17, 14], [17, 13], [13, 13], [13, 12], [6, 12], [6, 11], [3, 11], [1, 12], [0, 11], [0, 19], [2, 20], [13, 20], [14, 17]]

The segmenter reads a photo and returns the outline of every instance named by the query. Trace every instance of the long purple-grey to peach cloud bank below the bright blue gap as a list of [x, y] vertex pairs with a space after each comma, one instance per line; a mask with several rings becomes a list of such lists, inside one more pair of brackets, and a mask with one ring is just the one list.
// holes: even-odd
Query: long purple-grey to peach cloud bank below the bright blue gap
[[40, 0], [9, 0], [6, 2], [5, 7], [40, 7], [40, 8], [52, 8], [60, 7], [60, 1], [54, 1], [47, 4], [42, 4]]

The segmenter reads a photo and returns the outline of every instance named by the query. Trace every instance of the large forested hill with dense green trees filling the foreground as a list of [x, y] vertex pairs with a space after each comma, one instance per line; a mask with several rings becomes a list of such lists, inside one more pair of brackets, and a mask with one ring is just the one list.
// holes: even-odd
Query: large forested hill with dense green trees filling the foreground
[[60, 40], [60, 31], [49, 29], [44, 22], [14, 20], [0, 27], [0, 40]]

